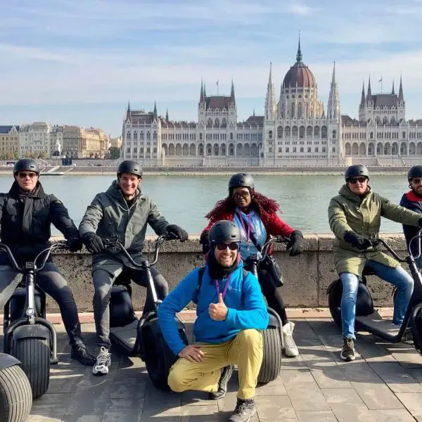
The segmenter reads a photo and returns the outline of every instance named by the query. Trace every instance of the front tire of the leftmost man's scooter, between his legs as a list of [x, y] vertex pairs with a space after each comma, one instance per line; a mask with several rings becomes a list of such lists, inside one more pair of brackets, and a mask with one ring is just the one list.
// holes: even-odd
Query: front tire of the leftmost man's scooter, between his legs
[[11, 354], [22, 362], [32, 388], [32, 397], [37, 399], [49, 389], [50, 345], [46, 338], [21, 338], [13, 343]]

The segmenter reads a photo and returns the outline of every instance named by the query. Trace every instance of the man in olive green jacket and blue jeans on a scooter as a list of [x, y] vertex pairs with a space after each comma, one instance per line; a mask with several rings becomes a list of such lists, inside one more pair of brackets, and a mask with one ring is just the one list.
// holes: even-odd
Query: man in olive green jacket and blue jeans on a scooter
[[343, 284], [340, 306], [344, 343], [340, 358], [351, 361], [354, 360], [357, 288], [364, 267], [370, 267], [378, 277], [397, 287], [392, 324], [402, 324], [413, 292], [413, 279], [399, 262], [380, 248], [372, 247], [371, 241], [378, 238], [381, 217], [409, 226], [422, 226], [422, 217], [371, 191], [369, 172], [364, 165], [348, 167], [345, 181], [339, 195], [331, 199], [328, 220], [335, 234], [335, 269]]

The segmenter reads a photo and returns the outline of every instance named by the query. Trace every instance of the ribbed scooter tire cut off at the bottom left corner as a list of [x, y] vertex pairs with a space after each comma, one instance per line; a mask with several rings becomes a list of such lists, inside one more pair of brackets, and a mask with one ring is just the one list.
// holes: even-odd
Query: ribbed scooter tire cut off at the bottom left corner
[[18, 365], [0, 371], [0, 420], [24, 422], [32, 408], [32, 390], [25, 372]]

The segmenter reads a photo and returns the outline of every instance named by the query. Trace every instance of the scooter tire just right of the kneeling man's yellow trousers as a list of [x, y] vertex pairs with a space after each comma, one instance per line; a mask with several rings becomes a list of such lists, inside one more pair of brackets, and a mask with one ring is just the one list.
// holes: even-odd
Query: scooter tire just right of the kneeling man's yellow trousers
[[262, 331], [263, 357], [258, 383], [274, 381], [281, 371], [281, 337], [279, 327], [270, 326]]

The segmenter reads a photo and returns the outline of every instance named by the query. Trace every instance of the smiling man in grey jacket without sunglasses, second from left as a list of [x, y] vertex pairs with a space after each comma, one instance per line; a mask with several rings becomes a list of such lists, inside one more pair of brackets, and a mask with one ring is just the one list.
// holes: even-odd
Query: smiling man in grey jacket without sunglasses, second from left
[[[143, 262], [143, 243], [147, 225], [156, 234], [171, 236], [184, 242], [188, 234], [176, 224], [169, 224], [160, 215], [157, 205], [149, 196], [141, 193], [141, 166], [136, 161], [123, 161], [117, 168], [117, 180], [106, 192], [98, 193], [88, 206], [79, 234], [92, 256], [92, 278], [94, 279], [94, 320], [96, 326], [96, 364], [94, 375], [108, 373], [110, 359], [110, 293], [117, 276], [126, 269], [132, 280], [147, 286], [146, 272], [135, 269], [123, 252], [111, 252], [103, 245], [103, 238], [117, 236], [136, 263]], [[167, 281], [151, 267], [151, 274], [158, 299], [168, 293]], [[153, 296], [147, 291], [143, 312], [153, 309]]]

